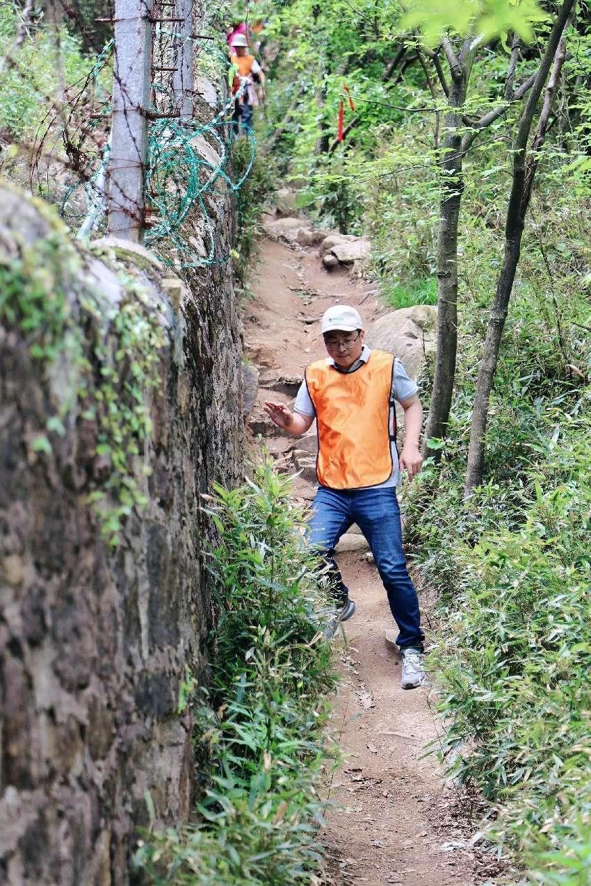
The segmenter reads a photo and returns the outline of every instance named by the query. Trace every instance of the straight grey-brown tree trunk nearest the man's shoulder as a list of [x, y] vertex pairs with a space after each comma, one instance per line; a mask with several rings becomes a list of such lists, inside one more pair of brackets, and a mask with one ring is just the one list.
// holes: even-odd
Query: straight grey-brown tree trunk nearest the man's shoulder
[[[444, 122], [441, 196], [437, 236], [437, 355], [431, 406], [425, 440], [443, 437], [454, 391], [457, 350], [457, 229], [463, 192], [462, 108], [468, 89], [473, 55], [452, 68]], [[439, 450], [425, 442], [426, 455], [439, 458]]]

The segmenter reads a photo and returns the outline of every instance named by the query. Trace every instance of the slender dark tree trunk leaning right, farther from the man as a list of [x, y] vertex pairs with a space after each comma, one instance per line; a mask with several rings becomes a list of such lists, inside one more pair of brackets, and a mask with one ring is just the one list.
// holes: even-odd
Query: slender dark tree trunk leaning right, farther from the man
[[[475, 486], [482, 482], [484, 472], [485, 434], [488, 419], [488, 404], [490, 392], [493, 387], [494, 373], [499, 359], [502, 330], [509, 309], [509, 299], [515, 275], [521, 239], [525, 227], [525, 214], [532, 196], [533, 178], [539, 162], [540, 147], [544, 142], [548, 129], [548, 119], [552, 104], [556, 96], [556, 89], [560, 78], [560, 72], [564, 65], [565, 37], [564, 30], [572, 14], [576, 0], [564, 0], [554, 26], [548, 37], [548, 46], [541, 60], [540, 70], [533, 84], [530, 96], [525, 104], [524, 112], [519, 122], [516, 144], [513, 153], [513, 183], [507, 209], [507, 221], [505, 225], [505, 252], [502, 260], [502, 268], [499, 274], [494, 303], [488, 320], [486, 340], [482, 352], [482, 359], [478, 367], [478, 379], [474, 392], [474, 408], [472, 412], [472, 425], [470, 429], [470, 446], [468, 450], [468, 467], [466, 470], [466, 482], [464, 497], [468, 498]], [[552, 61], [552, 74], [546, 89], [544, 105], [540, 113], [540, 120], [532, 144], [532, 152], [527, 162], [525, 160], [527, 140], [532, 128], [533, 114], [540, 99], [541, 91], [548, 76]]]

